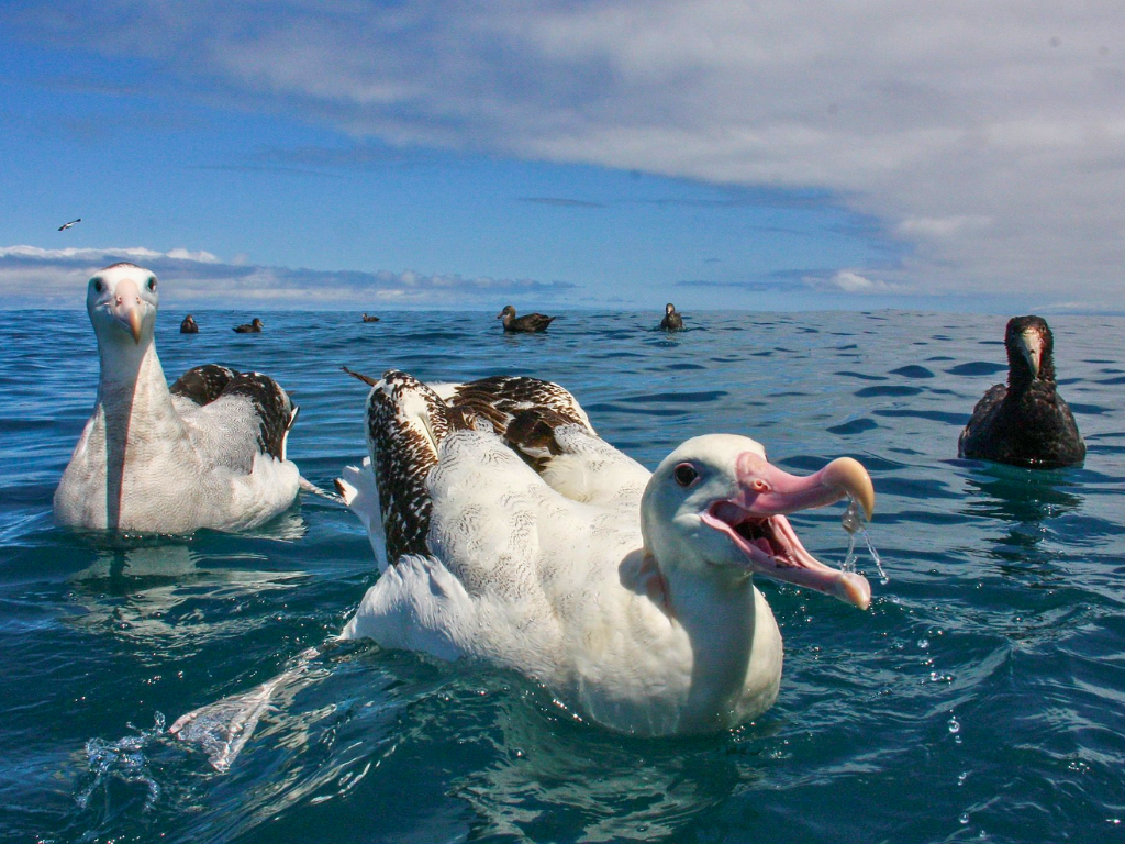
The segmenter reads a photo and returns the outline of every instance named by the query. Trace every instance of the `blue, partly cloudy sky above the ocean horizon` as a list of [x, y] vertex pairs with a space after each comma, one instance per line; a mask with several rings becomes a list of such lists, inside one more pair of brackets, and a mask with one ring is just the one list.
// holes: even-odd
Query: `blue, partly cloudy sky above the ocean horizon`
[[0, 102], [0, 307], [1125, 311], [1119, 0], [4, 0]]

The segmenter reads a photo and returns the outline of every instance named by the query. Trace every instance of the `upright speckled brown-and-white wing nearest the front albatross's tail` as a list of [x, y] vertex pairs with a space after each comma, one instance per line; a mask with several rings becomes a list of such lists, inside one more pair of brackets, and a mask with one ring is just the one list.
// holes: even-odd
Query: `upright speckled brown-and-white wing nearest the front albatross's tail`
[[460, 427], [465, 427], [462, 413], [406, 372], [390, 370], [371, 387], [368, 447], [392, 564], [406, 554], [430, 553], [426, 535], [433, 503], [426, 477], [438, 463], [441, 441]]

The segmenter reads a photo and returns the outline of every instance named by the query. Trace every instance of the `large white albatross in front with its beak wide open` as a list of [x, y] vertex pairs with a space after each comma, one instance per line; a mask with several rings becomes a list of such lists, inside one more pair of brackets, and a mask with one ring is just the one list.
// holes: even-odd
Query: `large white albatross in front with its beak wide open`
[[336, 485], [382, 573], [343, 638], [483, 658], [611, 729], [684, 735], [777, 697], [782, 640], [754, 574], [871, 602], [784, 515], [852, 495], [870, 517], [855, 460], [795, 477], [754, 440], [709, 434], [650, 474], [555, 384], [364, 380], [370, 459]]

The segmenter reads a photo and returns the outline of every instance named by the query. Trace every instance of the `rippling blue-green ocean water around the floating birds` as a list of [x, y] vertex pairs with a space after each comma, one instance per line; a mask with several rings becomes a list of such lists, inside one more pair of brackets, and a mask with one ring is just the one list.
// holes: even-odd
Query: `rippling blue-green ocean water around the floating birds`
[[[352, 643], [282, 684], [218, 773], [162, 727], [294, 666], [376, 580], [342, 506], [304, 495], [253, 536], [112, 540], [53, 526], [93, 402], [86, 314], [0, 313], [0, 839], [44, 842], [1125, 841], [1125, 320], [1055, 317], [1084, 466], [956, 458], [1004, 378], [1004, 320], [876, 312], [567, 314], [504, 336], [492, 314], [163, 313], [165, 372], [222, 361], [302, 405], [316, 484], [363, 456], [364, 385], [557, 380], [648, 466], [687, 437], [762, 441], [807, 473], [852, 455], [878, 505], [860, 612], [760, 581], [781, 697], [704, 738], [580, 722], [523, 677]], [[839, 564], [843, 506], [799, 514]]]

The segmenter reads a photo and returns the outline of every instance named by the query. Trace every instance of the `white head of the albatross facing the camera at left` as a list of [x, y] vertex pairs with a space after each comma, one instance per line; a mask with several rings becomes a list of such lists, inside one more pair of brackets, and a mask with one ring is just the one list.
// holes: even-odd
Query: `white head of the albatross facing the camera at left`
[[87, 287], [86, 309], [102, 349], [150, 343], [159, 305], [156, 276], [135, 263], [98, 270]]

